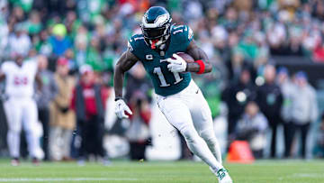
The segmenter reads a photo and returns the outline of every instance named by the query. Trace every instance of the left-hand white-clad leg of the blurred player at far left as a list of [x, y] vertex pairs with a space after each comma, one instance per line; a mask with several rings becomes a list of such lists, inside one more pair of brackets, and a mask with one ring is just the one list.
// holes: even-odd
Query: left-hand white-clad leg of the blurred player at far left
[[7, 143], [12, 158], [19, 158], [20, 133], [22, 131], [22, 107], [19, 101], [9, 99], [4, 103], [8, 123]]

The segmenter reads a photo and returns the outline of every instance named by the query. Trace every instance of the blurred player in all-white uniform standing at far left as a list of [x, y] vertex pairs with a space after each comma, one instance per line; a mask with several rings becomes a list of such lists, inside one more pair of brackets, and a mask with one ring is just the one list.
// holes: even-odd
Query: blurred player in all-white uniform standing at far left
[[[37, 60], [23, 61], [16, 56], [14, 61], [5, 61], [0, 69], [0, 81], [5, 81], [4, 111], [8, 122], [7, 142], [12, 164], [19, 164], [20, 133], [26, 133], [28, 151], [34, 163], [42, 156], [39, 136], [35, 132], [38, 121], [37, 106], [33, 99], [34, 82], [37, 78]], [[37, 79], [40, 81], [40, 79]], [[41, 86], [41, 81], [40, 85]]]

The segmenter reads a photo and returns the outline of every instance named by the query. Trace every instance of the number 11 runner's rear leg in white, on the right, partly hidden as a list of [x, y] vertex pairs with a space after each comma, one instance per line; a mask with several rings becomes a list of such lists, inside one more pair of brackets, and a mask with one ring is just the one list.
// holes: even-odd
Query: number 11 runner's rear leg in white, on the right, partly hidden
[[193, 116], [193, 125], [202, 139], [207, 143], [215, 158], [222, 163], [220, 144], [213, 130], [211, 109], [202, 96], [201, 91], [194, 98], [195, 100], [193, 100], [193, 105], [190, 108]]

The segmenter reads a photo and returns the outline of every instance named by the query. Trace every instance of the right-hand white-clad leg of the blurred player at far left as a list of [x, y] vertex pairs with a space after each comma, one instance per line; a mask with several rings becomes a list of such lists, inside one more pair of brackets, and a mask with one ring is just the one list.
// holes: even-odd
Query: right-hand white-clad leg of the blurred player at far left
[[35, 131], [35, 125], [38, 122], [37, 106], [33, 100], [26, 101], [23, 108], [23, 127], [26, 132], [28, 150], [31, 157], [41, 159], [39, 135]]

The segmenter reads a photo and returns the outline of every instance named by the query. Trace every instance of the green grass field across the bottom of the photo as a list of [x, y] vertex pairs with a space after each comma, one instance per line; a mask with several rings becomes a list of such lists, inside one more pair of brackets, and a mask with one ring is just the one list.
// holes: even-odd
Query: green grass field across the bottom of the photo
[[[259, 160], [254, 164], [229, 164], [235, 183], [320, 183], [324, 182], [324, 160]], [[23, 162], [12, 167], [0, 161], [0, 182], [217, 182], [202, 162], [112, 161], [111, 166], [76, 162], [51, 162], [33, 166]]]

